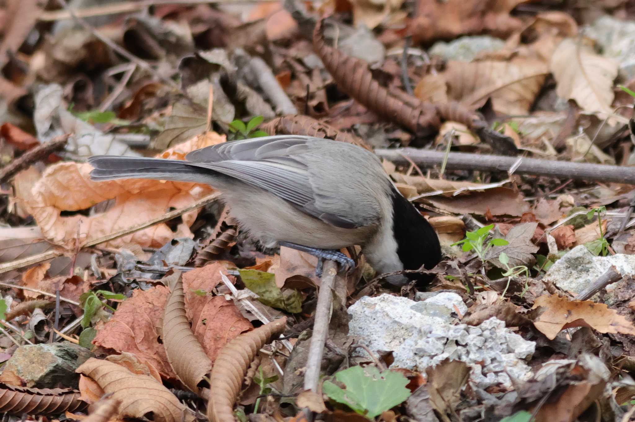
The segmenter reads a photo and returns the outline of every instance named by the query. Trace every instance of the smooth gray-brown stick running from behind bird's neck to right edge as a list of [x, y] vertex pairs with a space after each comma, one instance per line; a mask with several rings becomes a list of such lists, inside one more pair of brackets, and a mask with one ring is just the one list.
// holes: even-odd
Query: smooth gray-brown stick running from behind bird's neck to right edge
[[[440, 165], [445, 155], [443, 152], [417, 148], [376, 149], [375, 154], [390, 161], [406, 164], [407, 161], [402, 157], [402, 154], [405, 154], [419, 166], [428, 168]], [[505, 155], [451, 152], [448, 154], [446, 169], [507, 172], [517, 161], [517, 157]], [[613, 181], [635, 185], [635, 168], [605, 164], [523, 158], [515, 173], [552, 176], [562, 179]]]

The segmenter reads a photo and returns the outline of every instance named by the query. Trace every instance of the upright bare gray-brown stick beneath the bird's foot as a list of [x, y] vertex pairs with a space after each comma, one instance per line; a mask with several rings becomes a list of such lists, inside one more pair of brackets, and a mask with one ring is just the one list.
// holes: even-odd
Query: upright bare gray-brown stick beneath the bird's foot
[[309, 357], [307, 357], [307, 370], [304, 373], [304, 389], [312, 392], [318, 392], [319, 373], [322, 366], [326, 336], [328, 336], [328, 322], [331, 315], [333, 287], [335, 286], [336, 276], [337, 263], [325, 261], [319, 286], [318, 305], [316, 306], [316, 318], [313, 323], [311, 345], [309, 345]]

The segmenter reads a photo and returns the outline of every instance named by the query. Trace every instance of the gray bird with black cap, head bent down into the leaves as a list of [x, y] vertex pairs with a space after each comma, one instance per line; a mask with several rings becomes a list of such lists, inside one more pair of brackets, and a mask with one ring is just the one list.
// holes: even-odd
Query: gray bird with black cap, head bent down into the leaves
[[[206, 183], [221, 192], [241, 230], [266, 248], [291, 247], [347, 269], [340, 252], [361, 246], [378, 274], [441, 261], [432, 225], [403, 197], [373, 152], [351, 143], [276, 135], [211, 145], [184, 160], [93, 155], [91, 180], [142, 178]], [[385, 277], [396, 286], [414, 274]]]

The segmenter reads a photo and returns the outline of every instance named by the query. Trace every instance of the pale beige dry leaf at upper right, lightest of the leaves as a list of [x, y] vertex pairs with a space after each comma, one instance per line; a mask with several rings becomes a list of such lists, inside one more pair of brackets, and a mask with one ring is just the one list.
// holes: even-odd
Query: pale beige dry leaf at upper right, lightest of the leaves
[[596, 53], [582, 39], [563, 40], [551, 58], [556, 93], [575, 100], [585, 112], [612, 113], [613, 79], [619, 63]]

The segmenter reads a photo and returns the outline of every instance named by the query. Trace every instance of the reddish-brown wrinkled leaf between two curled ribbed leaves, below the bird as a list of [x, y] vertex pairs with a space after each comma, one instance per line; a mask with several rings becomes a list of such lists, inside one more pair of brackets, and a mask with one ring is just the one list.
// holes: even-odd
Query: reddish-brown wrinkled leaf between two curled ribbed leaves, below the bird
[[[197, 290], [210, 292], [221, 282], [221, 270], [226, 272], [225, 265], [213, 262], [183, 276], [187, 318], [192, 322], [192, 331], [212, 362], [228, 341], [253, 328], [233, 301], [226, 300], [224, 296], [198, 296], [194, 293]], [[227, 277], [235, 280], [231, 275]]]

